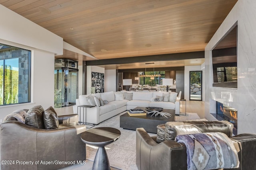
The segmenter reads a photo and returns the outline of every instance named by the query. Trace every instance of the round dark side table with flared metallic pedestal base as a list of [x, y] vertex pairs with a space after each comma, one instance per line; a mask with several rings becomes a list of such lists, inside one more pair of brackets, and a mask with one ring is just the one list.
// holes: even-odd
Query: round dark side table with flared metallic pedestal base
[[121, 132], [112, 127], [97, 127], [82, 133], [84, 143], [98, 147], [92, 170], [110, 170], [105, 146], [119, 139]]

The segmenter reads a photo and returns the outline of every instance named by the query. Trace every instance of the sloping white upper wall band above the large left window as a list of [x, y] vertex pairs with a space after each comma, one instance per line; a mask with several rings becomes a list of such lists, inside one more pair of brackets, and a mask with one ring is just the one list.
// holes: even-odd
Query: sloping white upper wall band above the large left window
[[0, 5], [0, 39], [63, 54], [63, 38]]

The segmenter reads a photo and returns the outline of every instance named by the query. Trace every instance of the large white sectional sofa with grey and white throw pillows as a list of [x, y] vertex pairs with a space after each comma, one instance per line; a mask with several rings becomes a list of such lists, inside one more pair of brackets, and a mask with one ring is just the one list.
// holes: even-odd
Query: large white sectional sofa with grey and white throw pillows
[[[100, 122], [113, 117], [123, 111], [134, 109], [135, 107], [162, 107], [165, 109], [175, 109], [175, 114], [180, 114], [180, 101], [176, 100], [177, 93], [171, 92], [170, 96], [166, 92], [104, 92], [96, 93], [90, 95], [80, 95], [76, 99], [76, 105], [73, 106], [74, 113], [79, 115], [80, 119], [80, 107], [78, 110], [77, 106], [80, 105], [92, 105], [95, 107], [90, 107], [86, 109], [84, 114], [81, 113], [81, 121], [92, 124], [99, 124]], [[154, 102], [156, 98], [161, 98], [160, 96], [165, 96], [164, 101]], [[95, 97], [95, 98], [94, 98]], [[167, 99], [168, 97], [168, 99]], [[100, 105], [100, 100], [101, 104]], [[103, 101], [108, 104], [103, 105]], [[84, 108], [85, 109], [85, 108]], [[81, 109], [81, 112], [83, 109]]]

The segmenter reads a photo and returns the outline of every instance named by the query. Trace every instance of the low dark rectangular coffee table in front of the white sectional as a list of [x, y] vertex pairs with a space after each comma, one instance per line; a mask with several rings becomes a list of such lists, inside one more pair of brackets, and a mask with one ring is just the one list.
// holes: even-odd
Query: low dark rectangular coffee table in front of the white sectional
[[[136, 109], [143, 109], [146, 113], [145, 107], [136, 107]], [[165, 124], [168, 121], [175, 121], [175, 109], [164, 109], [162, 112], [170, 113], [171, 117], [164, 117], [161, 115], [152, 116], [147, 114], [146, 116], [129, 116], [128, 113], [124, 113], [120, 116], [120, 127], [124, 129], [136, 130], [136, 128], [143, 127], [148, 133], [157, 133], [156, 126]]]

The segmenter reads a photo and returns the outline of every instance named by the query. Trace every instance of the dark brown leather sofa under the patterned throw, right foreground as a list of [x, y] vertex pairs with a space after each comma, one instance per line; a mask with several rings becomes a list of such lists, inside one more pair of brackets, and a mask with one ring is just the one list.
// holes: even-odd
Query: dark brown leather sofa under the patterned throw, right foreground
[[[218, 122], [218, 121], [214, 121]], [[202, 132], [222, 132], [230, 134], [230, 127], [209, 121], [198, 124], [197, 129]], [[205, 125], [203, 125], [205, 124]], [[185, 128], [185, 127], [184, 127]], [[172, 133], [175, 134], [175, 131]], [[240, 134], [230, 137], [236, 150], [238, 151], [239, 167], [232, 170], [252, 170], [256, 164], [256, 135]], [[177, 143], [174, 140], [166, 140], [157, 143], [157, 136], [150, 137], [143, 128], [136, 129], [136, 165], [139, 170], [187, 170], [186, 146], [183, 143]], [[230, 169], [231, 170], [231, 169]]]

